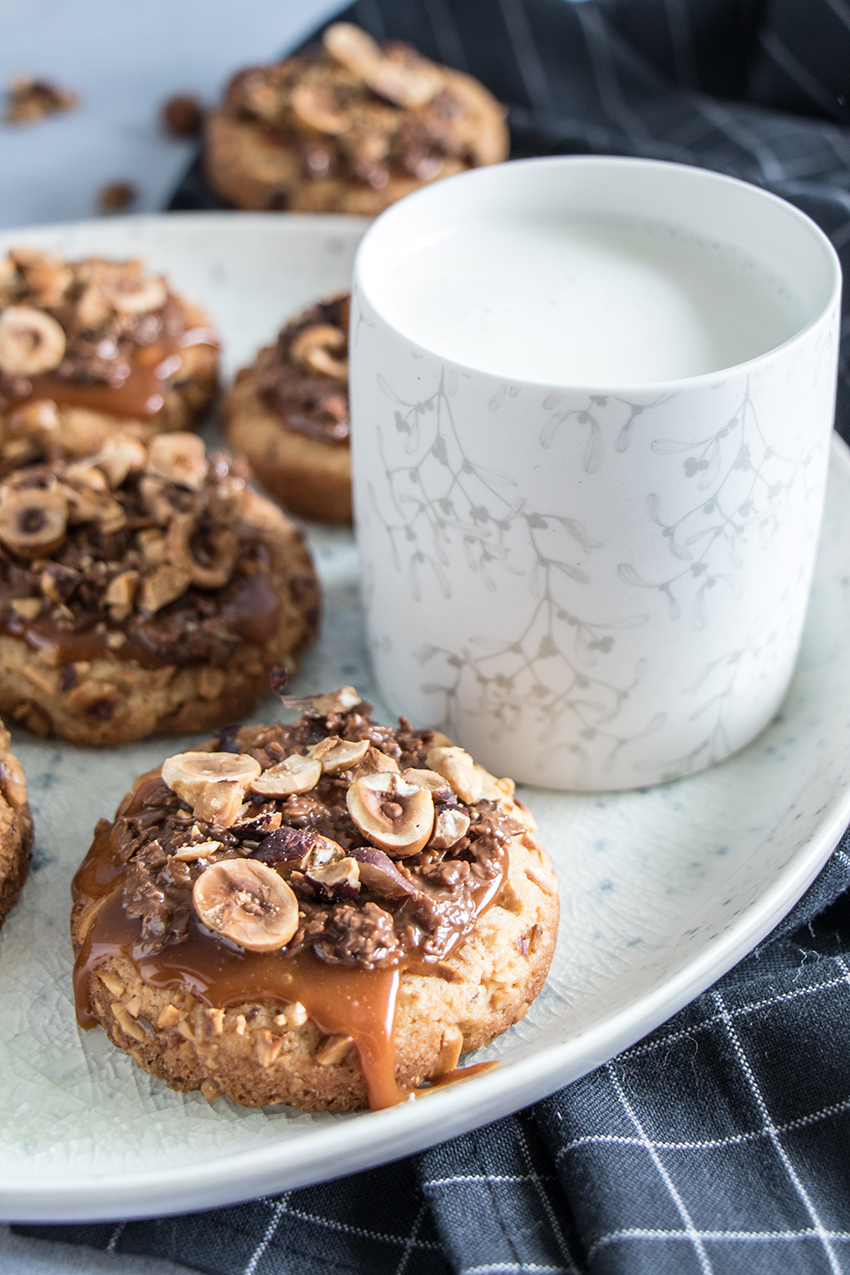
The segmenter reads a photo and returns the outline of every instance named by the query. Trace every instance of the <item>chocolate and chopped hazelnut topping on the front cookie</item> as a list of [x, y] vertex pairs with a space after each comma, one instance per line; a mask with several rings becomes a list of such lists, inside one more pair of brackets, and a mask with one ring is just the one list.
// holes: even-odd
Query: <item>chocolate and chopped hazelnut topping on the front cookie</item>
[[[287, 899], [288, 891], [294, 896], [297, 924], [280, 946], [283, 958], [311, 950], [325, 963], [363, 969], [436, 963], [472, 931], [502, 886], [511, 839], [526, 830], [512, 784], [446, 747], [433, 731], [414, 731], [405, 718], [395, 729], [377, 724], [371, 706], [350, 690], [335, 692], [336, 706], [333, 696], [317, 697], [321, 715], [313, 710], [291, 724], [228, 727], [209, 751], [168, 759], [162, 774], [136, 782], [113, 824], [98, 825], [80, 876], [99, 871], [104, 854], [111, 858], [112, 871], [122, 875], [125, 913], [140, 919], [145, 961], [199, 929], [209, 935], [194, 900], [198, 882], [212, 881], [205, 873], [220, 863], [238, 864], [227, 870], [228, 880], [247, 872], [246, 880], [260, 885], [271, 871], [285, 884]], [[354, 755], [353, 765], [340, 764]], [[429, 768], [450, 770], [446, 755], [474, 771], [475, 801], [464, 801], [445, 774]], [[285, 790], [296, 757], [302, 765], [317, 762], [317, 778], [302, 792]], [[385, 803], [385, 817], [395, 820], [396, 833], [408, 817], [408, 798], [428, 807], [435, 831], [426, 830], [414, 853], [385, 849], [380, 836], [364, 833], [352, 794], [376, 776], [386, 784], [391, 808], [386, 813]], [[277, 783], [278, 796], [270, 796]], [[437, 819], [446, 810], [463, 816], [456, 825], [463, 831], [440, 844], [446, 838], [436, 834]], [[212, 942], [238, 946], [237, 929], [228, 929], [233, 909], [246, 909], [256, 927], [265, 908], [269, 926], [279, 924], [268, 895], [252, 890], [247, 901], [228, 896], [231, 912], [217, 913]], [[205, 884], [201, 912], [210, 892]]]

